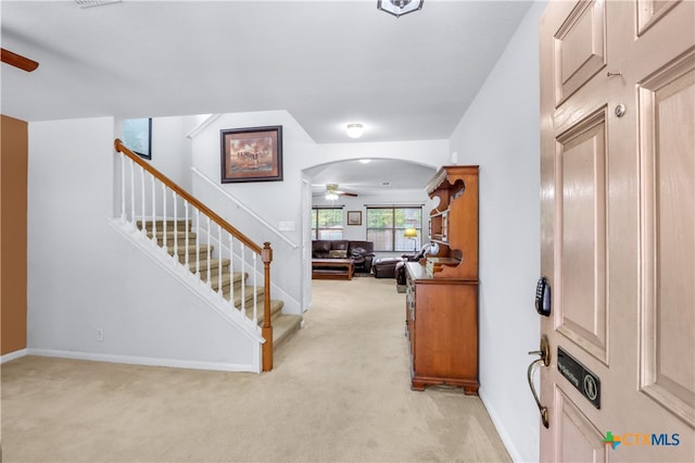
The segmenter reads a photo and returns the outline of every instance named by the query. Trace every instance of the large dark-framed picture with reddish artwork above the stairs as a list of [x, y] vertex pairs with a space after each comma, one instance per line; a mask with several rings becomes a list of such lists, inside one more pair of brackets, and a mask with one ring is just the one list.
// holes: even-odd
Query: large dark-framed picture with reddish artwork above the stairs
[[282, 126], [220, 130], [222, 183], [282, 180]]

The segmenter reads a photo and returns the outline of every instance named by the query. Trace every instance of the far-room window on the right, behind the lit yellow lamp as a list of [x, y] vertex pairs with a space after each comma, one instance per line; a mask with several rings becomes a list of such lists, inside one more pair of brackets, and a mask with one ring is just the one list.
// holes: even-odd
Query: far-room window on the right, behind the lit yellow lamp
[[[405, 230], [415, 228], [417, 236], [407, 238]], [[367, 208], [367, 241], [375, 251], [414, 251], [420, 248], [422, 208]]]

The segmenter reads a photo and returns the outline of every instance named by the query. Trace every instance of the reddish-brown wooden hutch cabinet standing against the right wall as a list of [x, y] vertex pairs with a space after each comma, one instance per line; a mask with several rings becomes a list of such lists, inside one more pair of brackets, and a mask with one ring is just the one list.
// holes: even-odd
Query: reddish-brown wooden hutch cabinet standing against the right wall
[[412, 388], [478, 392], [478, 166], [445, 166], [427, 186], [439, 252], [406, 264]]

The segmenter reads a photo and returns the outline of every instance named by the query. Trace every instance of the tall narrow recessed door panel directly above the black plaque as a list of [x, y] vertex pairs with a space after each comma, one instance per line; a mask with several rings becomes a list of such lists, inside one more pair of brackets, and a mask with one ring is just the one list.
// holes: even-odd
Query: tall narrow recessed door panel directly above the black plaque
[[[606, 111], [558, 138], [557, 215], [561, 218], [561, 299], [557, 330], [604, 363], [606, 359]], [[591, 236], [592, 239], [584, 239]]]

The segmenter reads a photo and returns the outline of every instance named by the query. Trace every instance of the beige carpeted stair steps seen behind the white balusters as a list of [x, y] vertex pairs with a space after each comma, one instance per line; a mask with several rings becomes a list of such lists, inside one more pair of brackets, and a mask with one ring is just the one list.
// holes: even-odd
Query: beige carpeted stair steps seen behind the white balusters
[[[136, 225], [139, 230], [142, 230], [142, 221], [137, 221]], [[146, 221], [144, 229], [152, 241], [154, 241], [152, 230], [156, 230], [154, 236], [160, 248], [164, 249], [166, 246], [166, 252], [169, 255], [176, 254], [181, 265], [187, 265], [192, 274], [198, 274], [203, 283], [207, 284], [213, 291], [220, 293], [225, 300], [230, 301], [233, 297], [235, 308], [243, 311], [251, 318], [253, 318], [255, 301], [258, 308], [255, 312], [257, 324], [263, 326], [265, 292], [263, 286], [250, 286], [247, 272], [230, 272], [230, 259], [218, 259], [215, 256], [214, 245], [200, 243], [198, 235], [192, 230], [191, 221], [155, 221], [154, 226], [151, 221]], [[301, 315], [283, 314], [283, 301], [270, 300], [274, 349], [295, 333], [302, 323]]]

